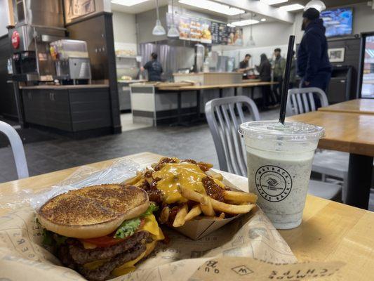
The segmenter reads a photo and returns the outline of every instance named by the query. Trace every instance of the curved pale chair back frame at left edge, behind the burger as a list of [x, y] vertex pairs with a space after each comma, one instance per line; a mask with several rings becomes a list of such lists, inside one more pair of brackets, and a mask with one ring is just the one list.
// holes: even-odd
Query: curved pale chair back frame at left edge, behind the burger
[[9, 143], [11, 143], [18, 178], [28, 178], [29, 169], [27, 169], [25, 150], [17, 131], [6, 122], [0, 121], [0, 132], [4, 133], [8, 137]]

